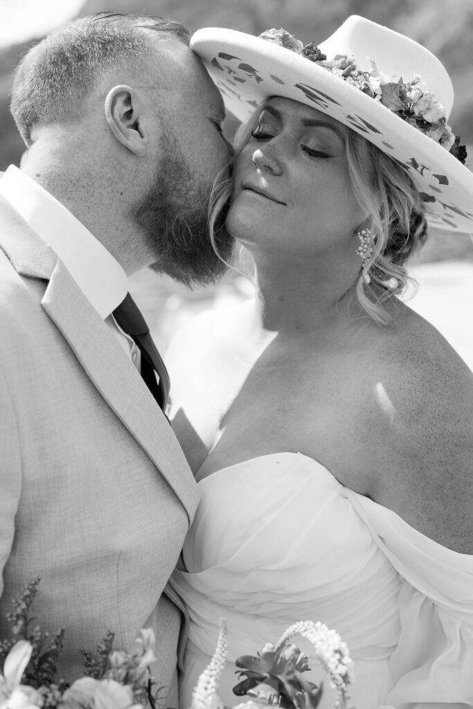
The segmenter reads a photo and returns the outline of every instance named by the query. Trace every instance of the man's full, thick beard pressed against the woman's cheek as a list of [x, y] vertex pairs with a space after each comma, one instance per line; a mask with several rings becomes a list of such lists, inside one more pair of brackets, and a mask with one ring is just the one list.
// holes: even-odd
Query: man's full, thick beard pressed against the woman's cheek
[[165, 136], [162, 148], [153, 184], [133, 211], [156, 255], [151, 268], [187, 286], [214, 283], [233, 252], [233, 238], [225, 230], [228, 206], [215, 225], [219, 257], [208, 235], [211, 186], [196, 182], [172, 135]]

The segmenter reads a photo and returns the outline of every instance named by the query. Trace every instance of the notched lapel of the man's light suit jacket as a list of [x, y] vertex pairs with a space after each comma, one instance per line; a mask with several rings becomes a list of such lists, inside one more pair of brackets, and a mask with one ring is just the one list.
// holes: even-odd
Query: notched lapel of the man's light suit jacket
[[[1, 248], [18, 273], [49, 279], [41, 305], [85, 372], [167, 480], [189, 518], [199, 493], [172, 428], [116, 337], [48, 245], [10, 206], [2, 212]], [[3, 219], [5, 213], [9, 218]]]

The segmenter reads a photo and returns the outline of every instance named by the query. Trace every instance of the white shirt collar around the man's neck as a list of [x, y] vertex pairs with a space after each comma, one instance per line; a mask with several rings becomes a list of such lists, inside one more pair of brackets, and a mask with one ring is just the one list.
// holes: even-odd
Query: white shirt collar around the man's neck
[[128, 291], [126, 273], [104, 245], [38, 182], [11, 165], [0, 194], [57, 254], [96, 309], [107, 318]]

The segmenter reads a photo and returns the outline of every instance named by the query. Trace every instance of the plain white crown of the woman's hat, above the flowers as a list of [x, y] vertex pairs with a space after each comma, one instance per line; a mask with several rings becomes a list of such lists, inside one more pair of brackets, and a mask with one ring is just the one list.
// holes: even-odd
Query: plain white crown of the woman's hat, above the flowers
[[442, 62], [414, 40], [358, 15], [352, 15], [319, 45], [328, 59], [337, 54], [355, 55], [357, 68], [370, 71], [373, 60], [387, 77], [411, 81], [420, 74], [421, 81], [445, 108], [446, 118], [453, 106], [453, 86]]

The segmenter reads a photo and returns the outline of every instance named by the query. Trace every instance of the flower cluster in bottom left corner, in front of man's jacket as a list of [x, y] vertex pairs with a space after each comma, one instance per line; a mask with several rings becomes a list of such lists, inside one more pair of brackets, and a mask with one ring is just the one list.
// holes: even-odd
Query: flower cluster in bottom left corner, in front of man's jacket
[[38, 593], [35, 579], [16, 596], [6, 618], [11, 640], [0, 641], [6, 656], [0, 674], [0, 709], [155, 709], [159, 690], [150, 676], [155, 660], [154, 632], [140, 631], [134, 652], [113, 651], [113, 632], [107, 632], [96, 653], [84, 652], [84, 676], [69, 686], [56, 679], [64, 629], [50, 635], [32, 626], [30, 607]]

